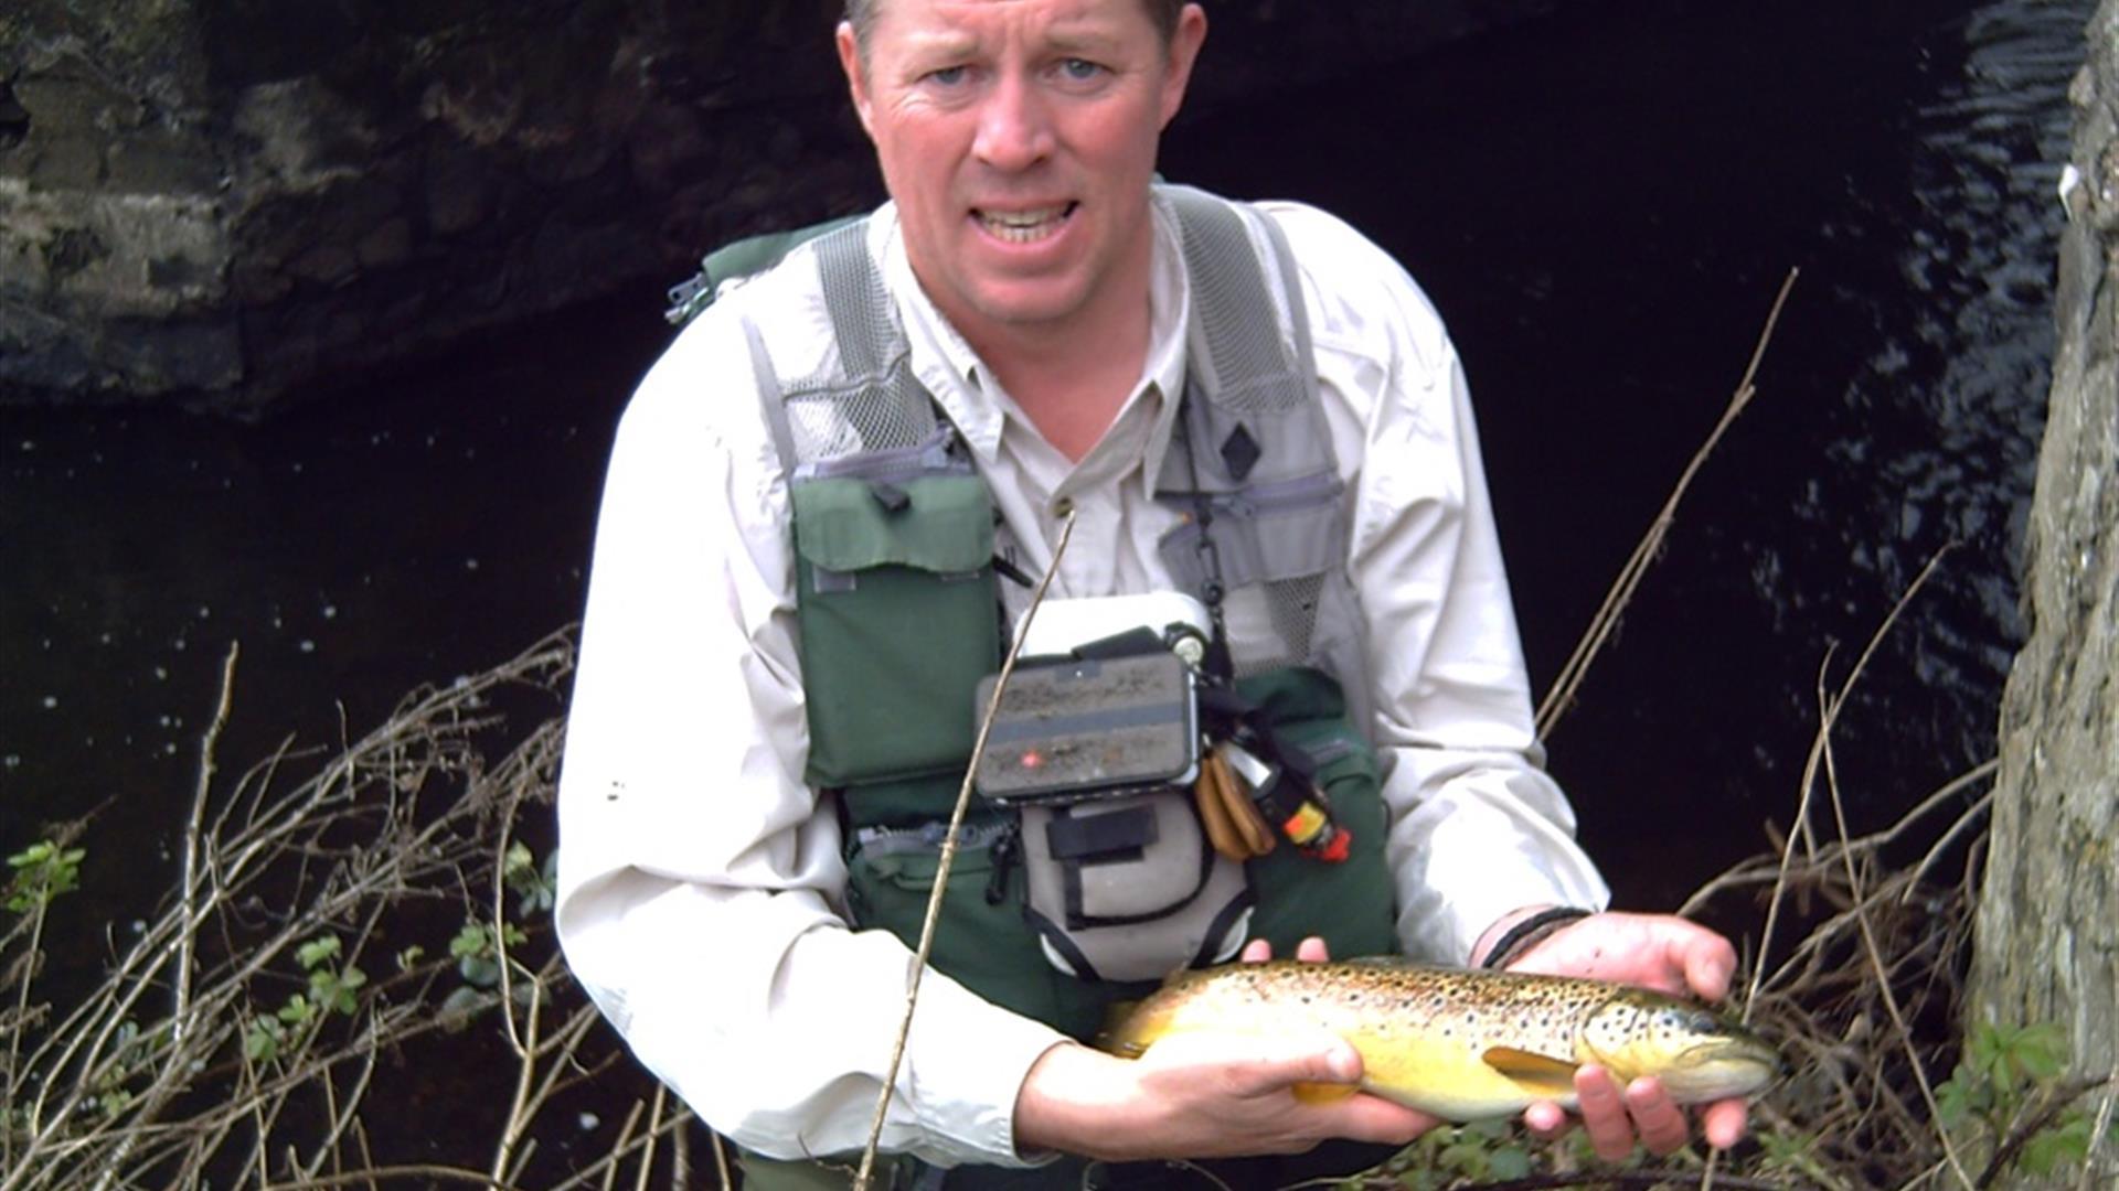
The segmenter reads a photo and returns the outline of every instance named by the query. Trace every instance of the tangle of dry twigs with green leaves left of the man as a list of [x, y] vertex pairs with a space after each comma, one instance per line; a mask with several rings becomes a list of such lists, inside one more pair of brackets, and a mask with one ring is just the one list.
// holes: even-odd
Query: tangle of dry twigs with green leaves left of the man
[[[127, 824], [184, 833], [180, 888], [129, 941], [66, 913], [114, 818], [17, 852], [0, 1189], [691, 1178], [689, 1117], [566, 979], [549, 869], [513, 837], [549, 820], [570, 670], [572, 642], [545, 640], [337, 754], [282, 750], [216, 788], [225, 680], [189, 820]], [[57, 949], [102, 949], [100, 979], [47, 975]]]

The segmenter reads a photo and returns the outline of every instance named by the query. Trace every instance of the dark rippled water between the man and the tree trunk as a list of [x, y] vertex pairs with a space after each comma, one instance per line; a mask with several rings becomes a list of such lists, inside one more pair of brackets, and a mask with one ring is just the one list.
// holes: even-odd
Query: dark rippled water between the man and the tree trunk
[[[1551, 735], [1621, 899], [1668, 905], [1788, 822], [1820, 676], [1952, 543], [1854, 691], [1839, 778], [1877, 824], [1992, 754], [2089, 11], [1581, 6], [1199, 125], [1210, 182], [1348, 214], [1449, 318], [1541, 689], [1801, 269], [1759, 398]], [[1254, 159], [1208, 157], [1235, 140]]]

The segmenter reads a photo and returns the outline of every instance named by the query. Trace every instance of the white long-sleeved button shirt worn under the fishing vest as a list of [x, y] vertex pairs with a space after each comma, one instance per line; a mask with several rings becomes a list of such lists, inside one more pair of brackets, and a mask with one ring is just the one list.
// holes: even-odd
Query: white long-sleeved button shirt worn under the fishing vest
[[[1541, 769], [1464, 373], [1441, 318], [1343, 223], [1295, 203], [1263, 210], [1301, 271], [1354, 500], [1346, 566], [1369, 632], [1399, 937], [1411, 956], [1464, 962], [1517, 907], [1602, 907], [1608, 894]], [[977, 458], [1026, 570], [1051, 564], [1076, 511], [1053, 598], [1168, 587], [1155, 543], [1176, 513], [1151, 490], [1182, 392], [1191, 299], [1161, 201], [1155, 225], [1146, 367], [1074, 464], [922, 295], [894, 208], [869, 223], [911, 367]], [[625, 411], [559, 784], [557, 926], [574, 975], [699, 1117], [776, 1157], [867, 1140], [911, 962], [896, 937], [848, 928], [839, 826], [801, 780], [788, 492], [740, 318], [776, 328], [780, 375], [807, 375], [835, 345], [820, 305], [799, 297], [814, 286], [803, 273], [767, 273], [716, 303]], [[1242, 648], [1250, 629], [1229, 629]], [[1015, 1096], [1057, 1041], [928, 973], [884, 1149], [1021, 1163]]]

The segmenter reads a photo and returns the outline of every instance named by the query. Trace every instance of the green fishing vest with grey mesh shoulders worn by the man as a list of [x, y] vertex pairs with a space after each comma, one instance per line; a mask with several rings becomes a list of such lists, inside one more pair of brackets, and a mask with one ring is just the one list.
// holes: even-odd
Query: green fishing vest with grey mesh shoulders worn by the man
[[[1276, 954], [1293, 954], [1305, 935], [1341, 958], [1390, 954], [1388, 822], [1375, 750], [1358, 727], [1367, 668], [1346, 576], [1350, 511], [1316, 394], [1299, 275], [1263, 214], [1185, 186], [1159, 184], [1157, 195], [1178, 216], [1193, 312], [1178, 443], [1155, 494], [1195, 513], [1159, 553], [1178, 589], [1271, 625], [1263, 657], [1233, 659], [1235, 689], [1316, 763], [1314, 784], [1354, 833], [1343, 863], [1286, 841], [1250, 860], [1250, 937]], [[867, 223], [837, 225], [778, 267], [814, 273], [837, 341], [837, 358], [820, 371], [784, 377], [771, 362], [773, 326], [746, 320], [795, 513], [805, 780], [839, 807], [852, 924], [915, 945], [973, 750], [973, 689], [1004, 651], [996, 511], [911, 375]], [[691, 290], [672, 297], [697, 305]], [[1146, 988], [1081, 981], [1047, 962], [1023, 918], [1015, 833], [1013, 812], [975, 795], [932, 964], [998, 1005], [1089, 1038], [1110, 1002]]]

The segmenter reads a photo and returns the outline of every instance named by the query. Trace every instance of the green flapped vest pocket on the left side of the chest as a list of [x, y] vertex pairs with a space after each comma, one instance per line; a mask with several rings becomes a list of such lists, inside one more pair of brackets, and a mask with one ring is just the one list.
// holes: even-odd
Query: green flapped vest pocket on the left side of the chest
[[994, 509], [975, 475], [797, 479], [795, 579], [816, 786], [962, 769], [1000, 665]]

